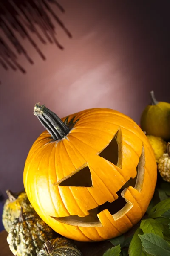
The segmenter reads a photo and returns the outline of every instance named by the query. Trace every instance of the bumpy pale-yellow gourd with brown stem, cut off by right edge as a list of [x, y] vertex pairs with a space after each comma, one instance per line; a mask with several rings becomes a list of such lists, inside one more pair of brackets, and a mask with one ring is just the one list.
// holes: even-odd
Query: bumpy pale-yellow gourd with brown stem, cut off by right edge
[[170, 143], [167, 144], [167, 153], [158, 160], [158, 171], [163, 180], [170, 182]]

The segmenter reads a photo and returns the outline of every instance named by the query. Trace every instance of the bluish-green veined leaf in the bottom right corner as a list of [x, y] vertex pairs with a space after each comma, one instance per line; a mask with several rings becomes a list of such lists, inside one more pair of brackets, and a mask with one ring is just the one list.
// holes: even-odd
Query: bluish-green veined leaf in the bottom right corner
[[144, 251], [156, 256], [170, 256], [170, 245], [160, 236], [153, 233], [139, 235]]

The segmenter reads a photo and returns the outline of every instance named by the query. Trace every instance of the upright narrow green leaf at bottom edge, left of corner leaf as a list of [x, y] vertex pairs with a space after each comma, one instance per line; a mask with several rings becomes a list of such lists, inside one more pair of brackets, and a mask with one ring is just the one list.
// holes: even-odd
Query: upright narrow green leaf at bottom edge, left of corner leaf
[[138, 228], [133, 235], [133, 239], [129, 246], [129, 256], [147, 256], [148, 254], [142, 250], [142, 243], [139, 234], [143, 234], [142, 230]]

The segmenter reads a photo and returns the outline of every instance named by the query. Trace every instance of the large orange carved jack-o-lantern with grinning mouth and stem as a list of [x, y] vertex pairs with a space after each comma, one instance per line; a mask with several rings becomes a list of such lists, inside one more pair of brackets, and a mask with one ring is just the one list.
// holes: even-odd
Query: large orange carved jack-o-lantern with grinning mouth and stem
[[136, 224], [157, 177], [153, 149], [139, 126], [106, 108], [61, 120], [36, 104], [34, 114], [47, 131], [29, 151], [24, 186], [42, 220], [78, 241], [110, 239]]

